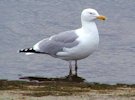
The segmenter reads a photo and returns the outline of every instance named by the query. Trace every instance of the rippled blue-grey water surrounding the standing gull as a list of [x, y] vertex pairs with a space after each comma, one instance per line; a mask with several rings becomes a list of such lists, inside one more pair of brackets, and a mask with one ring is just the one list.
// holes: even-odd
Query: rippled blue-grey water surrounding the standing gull
[[100, 46], [79, 62], [79, 75], [89, 82], [135, 83], [134, 0], [0, 0], [0, 79], [67, 75], [66, 61], [17, 50], [80, 27], [80, 13], [89, 7], [108, 20], [96, 22]]

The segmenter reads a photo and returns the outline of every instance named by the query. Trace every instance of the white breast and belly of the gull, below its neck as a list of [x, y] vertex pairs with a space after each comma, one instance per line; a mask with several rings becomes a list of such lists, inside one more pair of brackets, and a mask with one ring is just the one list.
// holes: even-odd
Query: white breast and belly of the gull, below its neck
[[78, 38], [76, 41], [79, 44], [72, 48], [64, 48], [63, 52], [58, 53], [58, 56], [64, 60], [80, 60], [88, 57], [98, 47], [99, 35], [98, 31], [84, 31], [83, 29], [76, 30]]

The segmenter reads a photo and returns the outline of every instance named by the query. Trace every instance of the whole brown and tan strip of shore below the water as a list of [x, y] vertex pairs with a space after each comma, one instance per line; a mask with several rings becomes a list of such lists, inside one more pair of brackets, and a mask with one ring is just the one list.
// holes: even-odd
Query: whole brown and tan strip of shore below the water
[[0, 80], [0, 100], [131, 100], [135, 84]]

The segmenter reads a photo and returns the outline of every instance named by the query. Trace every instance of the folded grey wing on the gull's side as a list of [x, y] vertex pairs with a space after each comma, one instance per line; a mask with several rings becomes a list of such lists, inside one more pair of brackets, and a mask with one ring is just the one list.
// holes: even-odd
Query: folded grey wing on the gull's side
[[78, 45], [76, 40], [78, 36], [75, 31], [66, 31], [44, 39], [34, 45], [34, 49], [38, 48], [38, 52], [47, 53], [51, 56], [56, 56], [57, 52], [63, 51], [63, 48], [72, 48]]

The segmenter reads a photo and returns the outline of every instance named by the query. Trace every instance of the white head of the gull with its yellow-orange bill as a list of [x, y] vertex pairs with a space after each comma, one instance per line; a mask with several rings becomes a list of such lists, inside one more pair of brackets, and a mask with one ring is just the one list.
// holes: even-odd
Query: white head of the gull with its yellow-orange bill
[[82, 11], [81, 19], [82, 21], [91, 22], [96, 19], [106, 20], [106, 17], [103, 15], [99, 15], [95, 9], [88, 8]]

